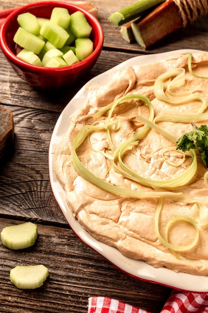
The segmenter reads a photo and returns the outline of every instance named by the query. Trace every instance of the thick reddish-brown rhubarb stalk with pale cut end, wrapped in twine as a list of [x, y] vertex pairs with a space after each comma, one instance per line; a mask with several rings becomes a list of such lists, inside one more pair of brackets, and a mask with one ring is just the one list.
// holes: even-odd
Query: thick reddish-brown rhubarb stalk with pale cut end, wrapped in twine
[[132, 22], [132, 31], [136, 41], [147, 48], [207, 13], [207, 0], [166, 0], [138, 23]]

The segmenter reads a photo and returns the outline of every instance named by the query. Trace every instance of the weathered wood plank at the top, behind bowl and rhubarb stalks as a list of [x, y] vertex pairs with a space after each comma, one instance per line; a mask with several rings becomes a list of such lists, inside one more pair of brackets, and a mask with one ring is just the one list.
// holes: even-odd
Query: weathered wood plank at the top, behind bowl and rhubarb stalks
[[[2, 8], [24, 5], [28, 2], [35, 2], [35, 0], [17, 0], [15, 4], [9, 3], [6, 0], [0, 1]], [[199, 18], [191, 25], [175, 31], [144, 50], [137, 43], [130, 44], [126, 42], [120, 35], [120, 28], [112, 25], [108, 20], [111, 13], [133, 3], [132, 1], [105, 0], [103, 2], [92, 0], [91, 2], [98, 8], [98, 18], [104, 30], [104, 49], [119, 49], [120, 51], [129, 51], [132, 53], [160, 53], [176, 49], [196, 49], [201, 47], [208, 51], [207, 37], [205, 35], [208, 32], [207, 16]]]

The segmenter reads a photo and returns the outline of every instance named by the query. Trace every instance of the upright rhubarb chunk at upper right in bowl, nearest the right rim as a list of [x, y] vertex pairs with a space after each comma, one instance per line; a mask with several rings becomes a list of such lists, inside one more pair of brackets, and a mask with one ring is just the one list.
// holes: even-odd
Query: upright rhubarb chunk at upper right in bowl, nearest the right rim
[[88, 23], [84, 13], [81, 11], [76, 11], [71, 14], [70, 19], [70, 29], [74, 35], [79, 37], [89, 37], [92, 27]]

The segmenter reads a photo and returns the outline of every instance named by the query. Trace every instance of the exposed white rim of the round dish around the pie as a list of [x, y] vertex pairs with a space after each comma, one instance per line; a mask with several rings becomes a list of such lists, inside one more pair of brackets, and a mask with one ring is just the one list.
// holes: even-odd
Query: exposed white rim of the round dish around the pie
[[[197, 52], [199, 50], [189, 50], [189, 51]], [[165, 59], [172, 55], [179, 55], [180, 53], [183, 52], [187, 52], [187, 50], [175, 50], [159, 54], [136, 56], [94, 77], [89, 82], [97, 81], [98, 83], [104, 83], [111, 78], [112, 74], [115, 71], [124, 66], [152, 63]], [[103, 255], [109, 262], [114, 264], [117, 268], [131, 276], [147, 280], [150, 282], [167, 285], [181, 290], [208, 291], [208, 277], [190, 275], [181, 272], [177, 273], [165, 267], [154, 268], [151, 265], [146, 264], [144, 261], [133, 260], [128, 257], [125, 257], [124, 255], [121, 254], [121, 252], [118, 249], [108, 246], [96, 240], [92, 235], [90, 235], [86, 230], [84, 230], [81, 224], [73, 217], [70, 208], [68, 207], [65, 201], [65, 191], [62, 188], [60, 182], [58, 181], [54, 173], [53, 156], [56, 144], [61, 140], [62, 136], [66, 133], [66, 131], [69, 128], [69, 116], [71, 115], [72, 112], [74, 112], [76, 109], [82, 106], [82, 104], [86, 100], [86, 97], [87, 93], [85, 91], [85, 87], [83, 86], [78, 91], [78, 93], [71, 99], [71, 101], [66, 105], [66, 107], [60, 114], [54, 127], [49, 146], [49, 175], [52, 191], [70, 227], [74, 230], [76, 235], [85, 244], [87, 244], [92, 249], [96, 250], [98, 253]]]

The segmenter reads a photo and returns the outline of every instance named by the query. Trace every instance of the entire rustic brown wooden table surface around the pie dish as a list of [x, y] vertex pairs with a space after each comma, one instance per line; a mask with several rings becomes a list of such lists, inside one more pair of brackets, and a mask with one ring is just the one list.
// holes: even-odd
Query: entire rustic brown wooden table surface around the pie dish
[[[0, 0], [0, 8], [29, 0]], [[73, 87], [56, 92], [33, 90], [11, 69], [0, 51], [0, 106], [13, 112], [14, 149], [0, 160], [0, 231], [23, 221], [37, 223], [34, 246], [12, 251], [0, 242], [0, 312], [87, 312], [88, 297], [109, 296], [154, 313], [172, 289], [138, 280], [115, 268], [82, 243], [58, 207], [49, 182], [48, 147], [53, 127], [65, 105], [89, 79], [136, 55], [181, 48], [208, 51], [208, 16], [143, 50], [124, 41], [109, 15], [131, 0], [92, 0], [99, 11], [105, 40], [90, 73]], [[17, 289], [9, 280], [12, 267], [42, 263], [49, 268], [44, 285]]]

